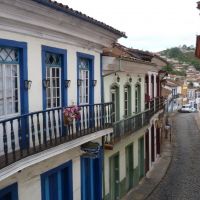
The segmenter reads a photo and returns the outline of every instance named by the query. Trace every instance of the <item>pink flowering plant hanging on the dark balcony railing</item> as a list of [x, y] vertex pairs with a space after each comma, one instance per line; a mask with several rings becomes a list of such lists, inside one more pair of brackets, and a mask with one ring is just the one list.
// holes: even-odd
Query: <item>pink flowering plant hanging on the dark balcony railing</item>
[[63, 110], [64, 125], [65, 126], [72, 125], [74, 119], [76, 121], [79, 121], [81, 119], [80, 110], [81, 110], [81, 108], [78, 107], [78, 106], [75, 106], [75, 105], [68, 107], [68, 108], [65, 108]]

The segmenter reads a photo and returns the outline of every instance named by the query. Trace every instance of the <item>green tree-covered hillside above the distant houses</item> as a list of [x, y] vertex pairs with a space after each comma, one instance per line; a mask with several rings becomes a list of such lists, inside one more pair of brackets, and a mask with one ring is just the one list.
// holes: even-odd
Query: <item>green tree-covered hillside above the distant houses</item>
[[[180, 47], [173, 47], [160, 52], [161, 56], [177, 60], [180, 64], [192, 65], [200, 71], [200, 59], [195, 57], [195, 49], [193, 46], [187, 47], [186, 45]], [[165, 70], [172, 74], [185, 74], [183, 71], [175, 71], [173, 64], [165, 67]]]

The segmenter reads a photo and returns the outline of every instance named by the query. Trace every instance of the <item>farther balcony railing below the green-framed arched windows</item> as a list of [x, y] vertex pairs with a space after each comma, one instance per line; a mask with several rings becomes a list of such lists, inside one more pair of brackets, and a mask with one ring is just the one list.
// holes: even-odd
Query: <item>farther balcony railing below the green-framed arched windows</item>
[[148, 104], [148, 110], [114, 123], [113, 133], [110, 136], [112, 142], [115, 143], [148, 125], [150, 118], [164, 108], [164, 98], [154, 98]]

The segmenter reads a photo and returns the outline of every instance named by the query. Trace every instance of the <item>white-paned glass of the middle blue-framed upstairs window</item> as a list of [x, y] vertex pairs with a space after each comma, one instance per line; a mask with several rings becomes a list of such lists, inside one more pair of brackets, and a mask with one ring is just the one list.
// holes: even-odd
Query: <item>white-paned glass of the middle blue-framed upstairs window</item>
[[47, 108], [61, 106], [61, 55], [46, 53], [46, 79], [50, 81], [46, 88]]

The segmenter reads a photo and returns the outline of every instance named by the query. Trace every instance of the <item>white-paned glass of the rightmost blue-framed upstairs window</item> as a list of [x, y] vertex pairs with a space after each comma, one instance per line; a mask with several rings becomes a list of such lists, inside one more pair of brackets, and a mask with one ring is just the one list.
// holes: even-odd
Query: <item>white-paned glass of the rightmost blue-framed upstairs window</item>
[[79, 88], [79, 103], [89, 104], [89, 60], [80, 59], [79, 60], [79, 79], [81, 79], [81, 86]]

